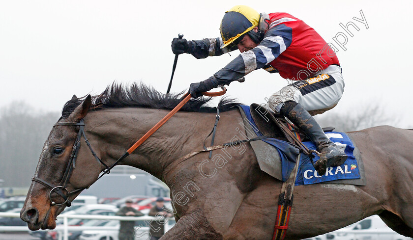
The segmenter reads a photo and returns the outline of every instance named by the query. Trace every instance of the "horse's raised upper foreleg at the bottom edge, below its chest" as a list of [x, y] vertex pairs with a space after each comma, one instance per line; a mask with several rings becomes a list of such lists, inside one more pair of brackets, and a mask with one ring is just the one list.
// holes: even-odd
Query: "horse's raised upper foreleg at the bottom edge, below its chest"
[[202, 210], [197, 209], [183, 215], [160, 240], [222, 240], [208, 222]]

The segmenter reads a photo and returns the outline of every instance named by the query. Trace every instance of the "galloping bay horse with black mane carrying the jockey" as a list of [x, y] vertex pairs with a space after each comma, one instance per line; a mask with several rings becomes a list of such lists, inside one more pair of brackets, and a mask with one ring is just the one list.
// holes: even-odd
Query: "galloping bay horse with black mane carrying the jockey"
[[[177, 162], [203, 149], [216, 116], [207, 101], [189, 101], [120, 164], [145, 170], [170, 187], [177, 223], [162, 240], [270, 240], [282, 182], [260, 170], [250, 144], [213, 151], [219, 158], [208, 159], [204, 152]], [[20, 213], [29, 229], [54, 229], [70, 201], [178, 103], [177, 95], [143, 84], [112, 84], [100, 95], [68, 101], [44, 144]], [[242, 139], [236, 105], [220, 102], [216, 144]], [[347, 134], [363, 159], [366, 185], [296, 186], [285, 239], [317, 236], [373, 214], [413, 237], [413, 131], [380, 126]], [[79, 135], [88, 142], [79, 142], [76, 163], [69, 163]], [[62, 182], [67, 191], [58, 187]], [[52, 203], [66, 196], [65, 204]]]

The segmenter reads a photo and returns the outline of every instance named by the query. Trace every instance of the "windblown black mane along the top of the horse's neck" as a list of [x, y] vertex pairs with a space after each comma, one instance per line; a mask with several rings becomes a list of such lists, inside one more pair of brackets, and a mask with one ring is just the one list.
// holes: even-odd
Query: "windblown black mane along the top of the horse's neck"
[[[107, 108], [121, 107], [147, 107], [154, 109], [173, 109], [180, 102], [180, 97], [183, 92], [177, 94], [164, 94], [153, 87], [149, 87], [144, 83], [133, 83], [130, 86], [112, 83], [103, 93], [92, 97], [92, 106], [90, 109], [99, 110]], [[85, 96], [86, 97], [86, 96]], [[73, 110], [79, 106], [85, 99], [75, 98], [69, 100], [61, 111], [62, 118], [68, 117]], [[211, 98], [191, 99], [180, 110], [193, 112], [216, 112], [214, 107], [208, 107], [207, 103]], [[222, 98], [219, 101], [218, 108], [220, 111], [229, 111], [234, 109], [240, 103], [234, 99]]]

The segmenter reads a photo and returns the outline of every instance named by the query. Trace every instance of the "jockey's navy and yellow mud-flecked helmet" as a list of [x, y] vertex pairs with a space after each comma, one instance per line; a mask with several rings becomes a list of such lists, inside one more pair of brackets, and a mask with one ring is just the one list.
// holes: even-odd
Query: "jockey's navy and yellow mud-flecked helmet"
[[257, 11], [244, 5], [237, 5], [225, 12], [221, 21], [221, 27], [219, 28], [222, 41], [224, 42], [222, 48], [230, 44], [238, 44], [245, 33], [249, 33], [248, 35], [251, 36], [254, 42], [261, 41], [260, 35], [263, 34], [252, 30], [254, 27], [259, 26], [260, 17], [261, 14]]

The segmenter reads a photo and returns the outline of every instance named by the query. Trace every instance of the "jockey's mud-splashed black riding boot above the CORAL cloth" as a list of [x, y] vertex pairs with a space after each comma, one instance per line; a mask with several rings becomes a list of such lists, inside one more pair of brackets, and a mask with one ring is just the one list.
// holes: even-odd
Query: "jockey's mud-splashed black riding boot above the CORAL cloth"
[[316, 144], [321, 156], [314, 167], [320, 175], [325, 174], [327, 167], [339, 166], [346, 161], [347, 155], [344, 151], [337, 148], [337, 146], [328, 139], [313, 116], [301, 105], [294, 101], [287, 101], [284, 103], [284, 106], [281, 107], [280, 113], [287, 117]]

